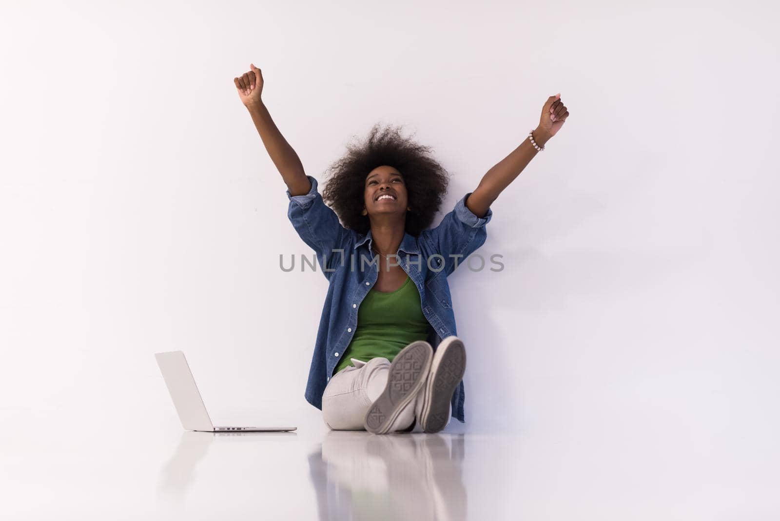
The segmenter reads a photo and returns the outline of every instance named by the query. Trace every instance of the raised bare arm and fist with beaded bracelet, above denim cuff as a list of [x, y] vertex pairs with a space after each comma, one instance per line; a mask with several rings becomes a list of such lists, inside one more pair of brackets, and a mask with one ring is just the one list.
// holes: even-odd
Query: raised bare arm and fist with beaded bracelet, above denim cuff
[[[560, 94], [555, 94], [555, 96], [548, 97], [541, 109], [539, 126], [533, 131], [534, 141], [539, 147], [544, 147], [544, 144], [558, 133], [566, 118], [569, 117], [569, 111], [563, 105], [560, 96]], [[530, 139], [524, 139], [519, 147], [482, 177], [479, 186], [466, 200], [466, 207], [477, 217], [483, 218], [493, 201], [509, 186], [509, 183], [512, 183], [520, 175], [520, 172], [523, 172], [523, 168], [526, 168], [537, 152]]]

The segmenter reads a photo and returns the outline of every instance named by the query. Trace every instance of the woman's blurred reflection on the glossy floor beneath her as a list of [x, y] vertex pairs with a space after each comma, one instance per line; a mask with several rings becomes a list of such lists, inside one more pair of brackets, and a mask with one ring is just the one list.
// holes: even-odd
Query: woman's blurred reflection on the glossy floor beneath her
[[463, 434], [328, 431], [309, 455], [320, 521], [466, 519]]

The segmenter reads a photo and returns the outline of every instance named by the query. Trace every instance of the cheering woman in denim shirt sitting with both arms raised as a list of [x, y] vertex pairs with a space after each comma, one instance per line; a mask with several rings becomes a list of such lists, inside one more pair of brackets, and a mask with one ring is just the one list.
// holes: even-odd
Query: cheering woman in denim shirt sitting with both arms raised
[[451, 416], [463, 422], [466, 350], [447, 276], [482, 246], [490, 205], [569, 117], [560, 94], [527, 139], [429, 229], [447, 172], [428, 147], [374, 126], [332, 166], [320, 195], [268, 114], [261, 70], [250, 64], [233, 83], [287, 185], [288, 217], [330, 282], [307, 401], [334, 430], [438, 432]]

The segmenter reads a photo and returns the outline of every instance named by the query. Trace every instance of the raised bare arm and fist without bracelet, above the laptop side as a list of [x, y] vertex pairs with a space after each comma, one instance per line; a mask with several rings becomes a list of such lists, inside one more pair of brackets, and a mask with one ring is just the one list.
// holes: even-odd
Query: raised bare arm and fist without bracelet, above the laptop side
[[254, 126], [260, 133], [265, 150], [274, 161], [276, 169], [282, 174], [287, 189], [293, 196], [304, 195], [309, 192], [311, 183], [303, 172], [303, 165], [293, 147], [287, 143], [285, 137], [276, 128], [268, 108], [265, 108], [261, 94], [263, 92], [263, 74], [260, 69], [250, 64], [250, 71], [242, 76], [233, 78], [241, 102], [252, 116]]

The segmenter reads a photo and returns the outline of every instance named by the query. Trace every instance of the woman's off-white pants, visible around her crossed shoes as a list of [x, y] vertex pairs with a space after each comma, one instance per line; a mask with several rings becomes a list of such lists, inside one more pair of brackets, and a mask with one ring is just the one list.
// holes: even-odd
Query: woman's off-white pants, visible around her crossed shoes
[[[333, 431], [364, 431], [363, 421], [374, 400], [385, 390], [390, 370], [386, 358], [372, 358], [368, 362], [351, 359], [353, 366], [334, 374], [322, 393], [322, 419]], [[420, 414], [422, 393], [418, 393], [399, 415], [396, 432], [410, 427]], [[449, 407], [447, 425], [452, 415]], [[411, 432], [423, 432], [420, 421]]]

